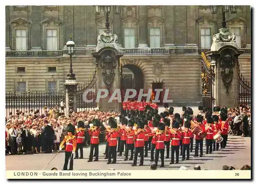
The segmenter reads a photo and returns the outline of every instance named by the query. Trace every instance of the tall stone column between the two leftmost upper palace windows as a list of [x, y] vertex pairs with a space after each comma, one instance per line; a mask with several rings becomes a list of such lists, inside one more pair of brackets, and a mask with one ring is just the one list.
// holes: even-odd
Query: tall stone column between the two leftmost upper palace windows
[[32, 6], [31, 50], [41, 51], [41, 6]]

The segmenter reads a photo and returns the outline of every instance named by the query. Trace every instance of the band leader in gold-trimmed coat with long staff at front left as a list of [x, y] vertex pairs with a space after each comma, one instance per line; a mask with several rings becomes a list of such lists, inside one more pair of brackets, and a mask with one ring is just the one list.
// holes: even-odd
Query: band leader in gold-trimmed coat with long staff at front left
[[75, 154], [75, 151], [76, 151], [76, 137], [74, 136], [74, 134], [75, 134], [74, 125], [68, 124], [67, 135], [59, 145], [59, 150], [62, 150], [62, 148], [65, 147], [65, 163], [63, 166], [63, 170], [68, 170], [69, 162], [70, 162], [69, 170], [73, 170], [73, 155]]

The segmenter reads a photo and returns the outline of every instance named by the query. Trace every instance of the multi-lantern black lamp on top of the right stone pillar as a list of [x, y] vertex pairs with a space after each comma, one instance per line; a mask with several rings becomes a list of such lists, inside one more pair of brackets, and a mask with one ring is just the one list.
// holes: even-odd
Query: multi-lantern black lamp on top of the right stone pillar
[[210, 12], [211, 14], [216, 14], [217, 13], [217, 9], [219, 9], [219, 14], [222, 15], [222, 22], [221, 22], [221, 26], [222, 28], [226, 28], [226, 17], [225, 17], [225, 13], [230, 12], [231, 13], [237, 13], [238, 11], [238, 6], [236, 5], [232, 5], [232, 6], [224, 6], [224, 5], [211, 5], [210, 6]]

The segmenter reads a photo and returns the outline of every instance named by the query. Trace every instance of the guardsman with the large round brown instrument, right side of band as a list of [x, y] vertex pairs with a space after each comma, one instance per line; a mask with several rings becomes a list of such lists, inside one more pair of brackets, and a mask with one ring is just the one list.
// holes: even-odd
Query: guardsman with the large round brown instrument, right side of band
[[194, 156], [198, 156], [198, 150], [200, 146], [200, 157], [203, 156], [203, 139], [200, 137], [200, 135], [205, 132], [205, 125], [202, 123], [203, 119], [204, 118], [202, 115], [197, 116], [197, 122], [199, 123], [199, 126], [202, 128], [202, 131], [196, 135], [196, 147]]

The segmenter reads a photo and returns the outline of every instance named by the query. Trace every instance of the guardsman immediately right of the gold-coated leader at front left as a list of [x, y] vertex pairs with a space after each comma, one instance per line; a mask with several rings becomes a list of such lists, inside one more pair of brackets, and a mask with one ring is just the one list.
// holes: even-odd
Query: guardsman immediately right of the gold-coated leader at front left
[[84, 122], [83, 121], [79, 121], [78, 122], [78, 129], [76, 131], [76, 143], [77, 143], [77, 147], [76, 147], [76, 156], [74, 159], [78, 158], [78, 149], [80, 149], [80, 157], [79, 158], [83, 158], [83, 139], [84, 139]]

